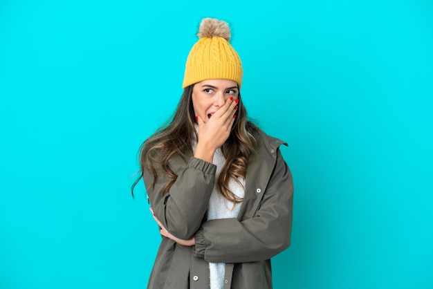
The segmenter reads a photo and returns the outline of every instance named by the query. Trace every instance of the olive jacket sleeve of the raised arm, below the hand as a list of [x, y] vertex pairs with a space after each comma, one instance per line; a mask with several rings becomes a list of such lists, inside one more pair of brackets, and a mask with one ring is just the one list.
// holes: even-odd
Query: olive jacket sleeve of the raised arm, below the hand
[[149, 192], [154, 176], [147, 169], [143, 171], [149, 201], [156, 217], [173, 236], [191, 239], [199, 230], [208, 209], [216, 166], [199, 158], [192, 157], [186, 161], [176, 156], [169, 167], [178, 177], [164, 196], [163, 189], [172, 178], [156, 167], [158, 178], [154, 189]]

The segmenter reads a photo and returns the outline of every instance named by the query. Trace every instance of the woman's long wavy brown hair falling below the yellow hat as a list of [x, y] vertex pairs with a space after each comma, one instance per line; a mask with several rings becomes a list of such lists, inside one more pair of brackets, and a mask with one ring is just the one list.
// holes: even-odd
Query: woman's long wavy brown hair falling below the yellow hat
[[[170, 187], [176, 182], [177, 175], [169, 167], [169, 160], [177, 153], [181, 156], [192, 154], [191, 144], [197, 139], [194, 128], [195, 114], [192, 106], [192, 88], [194, 84], [187, 86], [181, 96], [177, 109], [162, 127], [160, 127], [150, 138], [145, 140], [140, 147], [140, 171], [138, 178], [131, 187], [133, 189], [143, 176], [145, 169], [154, 175], [154, 181], [146, 189], [153, 191], [158, 173], [156, 166], [162, 169], [163, 174], [167, 174], [172, 180], [165, 185], [163, 194], [169, 192]], [[241, 184], [239, 177], [246, 177], [248, 161], [252, 153], [255, 153], [256, 140], [253, 136], [258, 127], [247, 118], [245, 106], [243, 105], [241, 93], [238, 94], [237, 117], [234, 120], [230, 136], [221, 147], [225, 164], [221, 169], [216, 187], [219, 193], [233, 203], [240, 203], [241, 198], [230, 191], [228, 184], [230, 178]]]

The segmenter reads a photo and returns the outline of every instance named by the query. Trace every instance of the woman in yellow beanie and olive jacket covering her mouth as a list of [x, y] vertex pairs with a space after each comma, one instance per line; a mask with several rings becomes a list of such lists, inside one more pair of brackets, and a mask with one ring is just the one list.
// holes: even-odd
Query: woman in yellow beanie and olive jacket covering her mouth
[[172, 120], [140, 149], [163, 236], [148, 288], [272, 288], [270, 258], [291, 239], [286, 144], [247, 120], [228, 25], [203, 19], [198, 36]]

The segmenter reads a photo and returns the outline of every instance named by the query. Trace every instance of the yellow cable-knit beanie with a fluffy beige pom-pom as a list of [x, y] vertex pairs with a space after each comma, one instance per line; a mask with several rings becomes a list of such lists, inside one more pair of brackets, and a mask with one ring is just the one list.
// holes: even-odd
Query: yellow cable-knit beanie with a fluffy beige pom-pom
[[185, 65], [185, 88], [203, 80], [233, 80], [239, 88], [242, 84], [242, 64], [236, 50], [228, 43], [230, 28], [225, 21], [205, 18], [201, 21], [197, 36]]

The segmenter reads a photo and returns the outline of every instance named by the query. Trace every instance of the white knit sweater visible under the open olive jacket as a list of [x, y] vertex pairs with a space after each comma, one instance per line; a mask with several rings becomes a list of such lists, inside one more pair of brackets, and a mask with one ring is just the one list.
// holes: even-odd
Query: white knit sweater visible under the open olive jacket
[[[196, 125], [196, 130], [198, 131], [198, 129], [199, 127]], [[195, 149], [196, 142], [193, 142], [192, 150], [195, 151]], [[215, 151], [212, 163], [216, 165], [215, 178], [218, 178], [225, 163], [225, 158], [221, 149]], [[239, 185], [235, 180], [230, 179], [228, 187], [236, 196], [243, 198], [243, 195], [245, 194], [245, 180], [243, 178], [240, 178], [239, 180], [242, 185]], [[223, 196], [219, 194], [218, 189], [216, 189], [215, 182], [209, 201], [208, 220], [214, 220], [216, 218], [236, 218], [239, 214], [239, 209], [241, 209], [241, 203], [234, 204], [223, 198]], [[225, 263], [209, 263], [209, 272], [210, 289], [224, 288]]]

